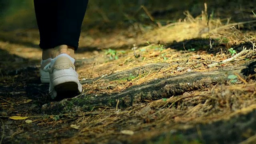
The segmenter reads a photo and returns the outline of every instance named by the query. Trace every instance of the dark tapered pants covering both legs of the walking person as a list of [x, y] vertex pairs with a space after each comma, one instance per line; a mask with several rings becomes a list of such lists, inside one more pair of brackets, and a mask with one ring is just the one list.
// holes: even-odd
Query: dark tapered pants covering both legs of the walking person
[[88, 0], [34, 0], [40, 48], [65, 44], [77, 50]]

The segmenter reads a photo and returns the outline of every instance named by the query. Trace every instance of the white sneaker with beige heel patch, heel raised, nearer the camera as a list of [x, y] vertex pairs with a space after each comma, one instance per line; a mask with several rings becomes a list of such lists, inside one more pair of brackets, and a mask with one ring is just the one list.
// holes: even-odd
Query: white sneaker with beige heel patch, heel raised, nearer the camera
[[50, 74], [49, 94], [52, 99], [71, 98], [82, 92], [74, 66], [75, 59], [60, 54], [44, 68]]

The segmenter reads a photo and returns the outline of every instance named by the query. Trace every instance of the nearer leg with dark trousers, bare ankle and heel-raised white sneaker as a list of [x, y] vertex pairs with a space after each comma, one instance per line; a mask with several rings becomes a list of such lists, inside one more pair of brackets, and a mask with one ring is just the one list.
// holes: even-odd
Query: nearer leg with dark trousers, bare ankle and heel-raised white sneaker
[[[52, 10], [55, 20], [53, 28], [50, 28], [52, 30], [46, 35], [44, 32], [41, 34], [42, 29], [45, 29], [44, 26], [40, 30], [40, 37], [51, 35], [48, 39], [40, 38], [40, 47], [53, 48], [52, 59], [45, 66], [44, 71], [50, 74], [49, 93], [52, 98], [72, 97], [82, 92], [82, 85], [74, 67], [74, 51], [78, 48], [88, 0], [56, 0], [55, 2], [56, 5]], [[40, 29], [40, 24], [38, 27]], [[43, 51], [42, 56], [46, 51]]]

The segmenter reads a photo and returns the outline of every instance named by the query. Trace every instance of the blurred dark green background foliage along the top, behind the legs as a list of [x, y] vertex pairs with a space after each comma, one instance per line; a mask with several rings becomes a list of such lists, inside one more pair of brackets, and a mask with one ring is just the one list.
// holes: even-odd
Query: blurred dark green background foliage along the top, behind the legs
[[[255, 9], [255, 0], [89, 0], [82, 29], [94, 26], [113, 28], [135, 22], [150, 23], [150, 18], [141, 8], [142, 5], [156, 22], [164, 25], [184, 18], [185, 10], [192, 16], [200, 15], [204, 10], [204, 2], [208, 5], [208, 13], [222, 18], [236, 19], [236, 10], [251, 12]], [[246, 8], [243, 7], [245, 3]], [[28, 28], [37, 28], [33, 0], [1, 0], [0, 30]]]

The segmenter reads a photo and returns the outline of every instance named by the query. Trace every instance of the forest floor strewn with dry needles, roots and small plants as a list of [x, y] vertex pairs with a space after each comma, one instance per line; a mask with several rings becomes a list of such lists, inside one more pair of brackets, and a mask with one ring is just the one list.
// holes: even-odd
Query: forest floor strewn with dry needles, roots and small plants
[[239, 23], [185, 14], [153, 29], [82, 32], [83, 92], [59, 101], [40, 83], [38, 30], [1, 33], [0, 143], [255, 142], [253, 14]]

